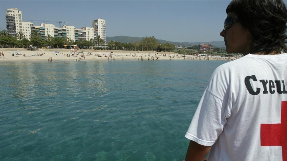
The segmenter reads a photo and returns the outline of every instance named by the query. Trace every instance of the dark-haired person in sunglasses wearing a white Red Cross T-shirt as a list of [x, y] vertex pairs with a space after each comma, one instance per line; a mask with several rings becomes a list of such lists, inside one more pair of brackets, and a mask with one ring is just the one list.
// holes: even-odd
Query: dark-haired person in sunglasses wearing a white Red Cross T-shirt
[[220, 36], [242, 53], [213, 72], [185, 137], [185, 161], [287, 160], [287, 9], [233, 0]]

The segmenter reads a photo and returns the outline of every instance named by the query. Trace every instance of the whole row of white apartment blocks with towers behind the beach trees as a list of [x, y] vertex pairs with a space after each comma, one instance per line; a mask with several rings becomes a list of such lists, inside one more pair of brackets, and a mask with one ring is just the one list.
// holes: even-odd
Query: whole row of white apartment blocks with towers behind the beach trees
[[106, 20], [104, 19], [93, 20], [92, 27], [83, 26], [81, 29], [68, 25], [58, 28], [48, 23], [41, 23], [40, 26], [37, 26], [32, 22], [22, 22], [22, 11], [19, 11], [17, 8], [10, 8], [6, 9], [6, 25], [10, 35], [15, 37], [17, 33], [23, 32], [29, 40], [31, 35], [37, 31], [42, 40], [45, 40], [50, 35], [53, 38], [66, 37], [67, 40], [89, 41], [100, 35], [104, 42], [106, 42]]

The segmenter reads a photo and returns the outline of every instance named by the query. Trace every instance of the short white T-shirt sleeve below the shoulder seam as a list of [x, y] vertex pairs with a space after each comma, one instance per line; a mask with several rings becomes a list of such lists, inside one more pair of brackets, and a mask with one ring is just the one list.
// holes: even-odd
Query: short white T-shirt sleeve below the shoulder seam
[[185, 137], [204, 146], [212, 146], [223, 130], [225, 107], [221, 99], [205, 90]]

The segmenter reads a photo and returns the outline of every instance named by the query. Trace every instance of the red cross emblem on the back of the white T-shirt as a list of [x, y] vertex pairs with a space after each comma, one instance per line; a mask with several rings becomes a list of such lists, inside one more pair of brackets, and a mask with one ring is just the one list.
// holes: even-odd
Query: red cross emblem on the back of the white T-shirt
[[261, 124], [261, 146], [282, 146], [283, 161], [287, 161], [287, 101], [282, 101], [281, 123]]

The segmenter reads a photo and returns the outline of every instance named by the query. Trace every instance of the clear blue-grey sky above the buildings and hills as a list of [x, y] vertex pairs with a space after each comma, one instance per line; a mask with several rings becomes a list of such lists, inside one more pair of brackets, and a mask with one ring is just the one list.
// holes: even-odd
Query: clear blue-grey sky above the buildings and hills
[[[219, 33], [230, 1], [1, 0], [0, 27], [6, 29], [5, 10], [18, 8], [23, 21], [64, 21], [76, 28], [92, 27], [93, 19], [102, 18], [106, 20], [106, 36], [155, 36], [174, 42], [223, 41]], [[59, 23], [53, 24], [59, 27]]]

